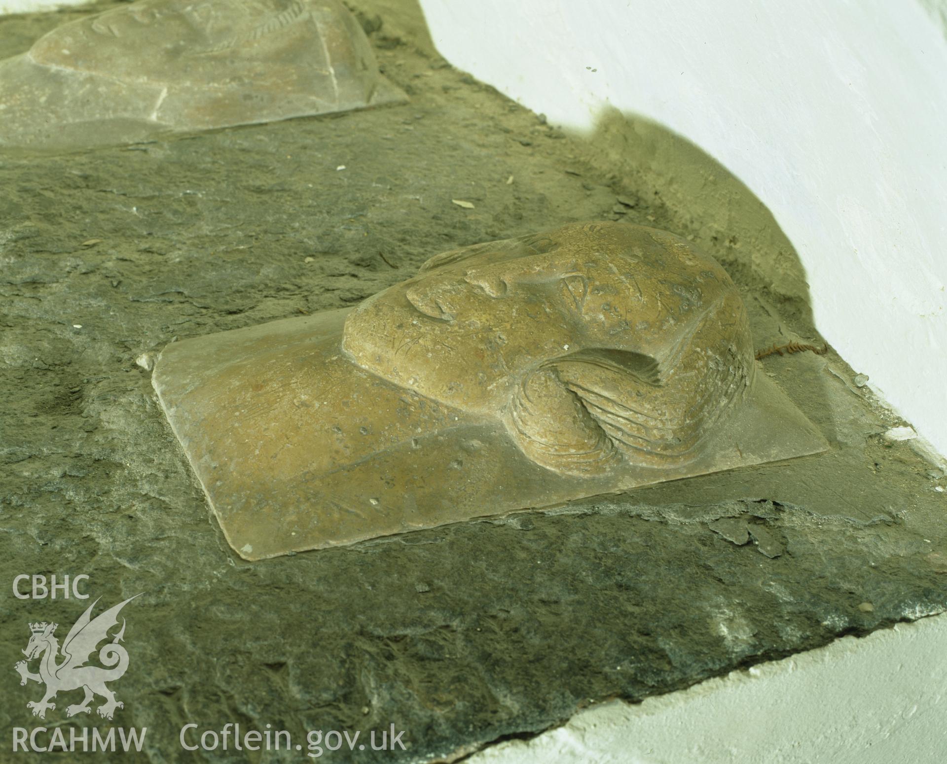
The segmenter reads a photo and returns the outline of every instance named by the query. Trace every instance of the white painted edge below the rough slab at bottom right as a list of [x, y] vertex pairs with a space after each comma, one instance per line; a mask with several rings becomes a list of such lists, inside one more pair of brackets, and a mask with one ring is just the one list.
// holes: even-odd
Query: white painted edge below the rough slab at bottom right
[[468, 764], [942, 764], [947, 614], [630, 705], [609, 702]]

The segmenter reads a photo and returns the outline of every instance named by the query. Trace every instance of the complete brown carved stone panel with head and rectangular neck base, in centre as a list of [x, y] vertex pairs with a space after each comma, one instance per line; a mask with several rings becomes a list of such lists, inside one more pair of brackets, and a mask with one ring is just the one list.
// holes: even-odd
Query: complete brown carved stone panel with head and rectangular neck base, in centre
[[688, 241], [565, 225], [354, 309], [167, 346], [152, 376], [247, 560], [826, 450]]

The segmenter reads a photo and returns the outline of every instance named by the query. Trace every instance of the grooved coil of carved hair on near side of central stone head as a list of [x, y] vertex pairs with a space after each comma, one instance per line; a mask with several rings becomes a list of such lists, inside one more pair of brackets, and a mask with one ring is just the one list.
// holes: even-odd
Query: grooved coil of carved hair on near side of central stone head
[[[737, 332], [707, 344], [722, 323]], [[533, 461], [566, 474], [681, 464], [742, 400], [753, 372], [742, 303], [724, 297], [663, 358], [594, 348], [541, 364], [516, 386], [507, 427]]]

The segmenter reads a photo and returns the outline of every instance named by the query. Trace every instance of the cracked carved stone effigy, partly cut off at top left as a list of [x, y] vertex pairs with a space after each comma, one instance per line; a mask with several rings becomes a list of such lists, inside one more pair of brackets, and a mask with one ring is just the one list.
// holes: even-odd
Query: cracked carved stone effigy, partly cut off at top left
[[140, 0], [0, 62], [0, 146], [124, 143], [403, 99], [337, 0]]

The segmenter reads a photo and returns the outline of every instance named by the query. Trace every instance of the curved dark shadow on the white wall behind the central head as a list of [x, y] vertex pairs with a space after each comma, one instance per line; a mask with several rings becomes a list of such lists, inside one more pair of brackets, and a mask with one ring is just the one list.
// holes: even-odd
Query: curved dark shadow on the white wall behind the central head
[[[716, 258], [740, 287], [759, 351], [823, 346], [805, 268], [769, 208], [687, 138], [650, 119], [606, 108], [591, 133], [573, 133], [615, 188], [634, 191], [626, 219], [665, 228]], [[835, 413], [822, 375], [780, 384], [830, 442]], [[801, 381], [800, 381], [801, 382]]]

